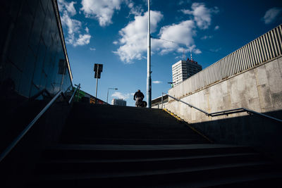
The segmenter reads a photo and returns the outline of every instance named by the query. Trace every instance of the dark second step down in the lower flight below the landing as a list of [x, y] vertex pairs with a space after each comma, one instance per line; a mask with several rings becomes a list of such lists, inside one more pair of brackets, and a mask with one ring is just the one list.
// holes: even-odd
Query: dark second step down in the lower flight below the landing
[[227, 153], [207, 156], [183, 156], [171, 158], [128, 158], [97, 160], [52, 160], [37, 165], [37, 174], [70, 173], [118, 173], [121, 171], [165, 170], [205, 165], [262, 162], [264, 158], [257, 153]]

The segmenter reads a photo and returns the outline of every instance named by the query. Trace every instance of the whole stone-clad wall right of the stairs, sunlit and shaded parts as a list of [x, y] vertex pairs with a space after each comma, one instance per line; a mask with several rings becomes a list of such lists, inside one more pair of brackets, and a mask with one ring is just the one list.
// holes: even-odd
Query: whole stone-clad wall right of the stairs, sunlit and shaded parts
[[[282, 57], [247, 70], [187, 96], [182, 101], [209, 113], [245, 107], [282, 119]], [[168, 94], [182, 96], [189, 82], [174, 87]], [[166, 108], [190, 123], [196, 130], [219, 144], [253, 146], [281, 163], [282, 124], [247, 113], [208, 117], [178, 101]]]

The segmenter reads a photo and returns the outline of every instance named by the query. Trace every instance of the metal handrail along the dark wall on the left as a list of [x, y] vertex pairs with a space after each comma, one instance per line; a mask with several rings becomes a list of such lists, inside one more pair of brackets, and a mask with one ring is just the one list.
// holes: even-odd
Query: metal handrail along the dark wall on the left
[[[80, 86], [80, 84], [78, 84]], [[69, 101], [67, 101], [68, 104], [71, 104], [71, 101], [73, 99], [73, 96], [75, 95], [75, 93], [77, 92], [78, 87], [75, 89], [75, 92], [73, 92], [73, 95], [71, 96], [71, 99]], [[44, 91], [46, 92], [46, 91]], [[44, 92], [41, 92], [42, 94]], [[36, 115], [36, 117], [27, 125], [27, 127], [25, 127], [25, 129], [20, 132], [20, 134], [18, 135], [18, 137], [16, 137], [13, 142], [1, 153], [0, 155], [0, 163], [1, 161], [3, 161], [3, 159], [8, 155], [8, 153], [10, 153], [12, 151], [12, 149], [18, 144], [18, 142], [20, 142], [20, 139], [22, 139], [25, 134], [30, 130], [30, 128], [35, 125], [35, 123], [37, 122], [37, 120], [50, 108], [50, 106], [52, 104], [54, 104], [54, 102], [56, 101], [56, 99], [59, 98], [59, 96], [63, 96], [63, 99], [66, 99], [65, 94], [63, 93], [63, 91], [59, 91], [54, 97], [53, 99], [51, 99], [51, 101], [49, 101], [49, 103], [42, 109], [42, 111], [40, 111], [38, 113], [38, 115]]]

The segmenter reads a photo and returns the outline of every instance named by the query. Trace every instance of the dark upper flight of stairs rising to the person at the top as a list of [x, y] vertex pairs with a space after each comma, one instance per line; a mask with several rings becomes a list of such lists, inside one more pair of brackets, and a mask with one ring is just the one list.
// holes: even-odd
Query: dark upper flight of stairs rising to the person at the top
[[75, 103], [73, 106], [61, 142], [70, 144], [209, 143], [185, 123], [179, 122], [159, 109], [80, 103]]

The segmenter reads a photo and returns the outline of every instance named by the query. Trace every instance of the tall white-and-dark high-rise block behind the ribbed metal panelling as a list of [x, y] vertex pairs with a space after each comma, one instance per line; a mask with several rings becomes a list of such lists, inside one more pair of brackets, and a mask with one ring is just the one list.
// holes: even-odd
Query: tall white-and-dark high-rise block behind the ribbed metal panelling
[[195, 75], [202, 70], [202, 65], [199, 65], [197, 61], [192, 58], [187, 61], [180, 60], [172, 65], [172, 80], [174, 85], [183, 82], [188, 77]]

